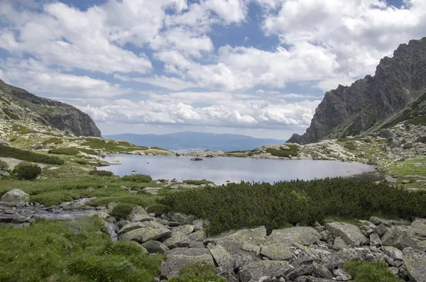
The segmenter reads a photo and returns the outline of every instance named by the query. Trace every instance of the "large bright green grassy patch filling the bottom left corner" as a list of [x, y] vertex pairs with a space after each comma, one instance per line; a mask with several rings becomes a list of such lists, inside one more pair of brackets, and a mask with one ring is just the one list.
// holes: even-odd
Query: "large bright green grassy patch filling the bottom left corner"
[[153, 281], [162, 255], [112, 242], [97, 217], [0, 225], [0, 281]]

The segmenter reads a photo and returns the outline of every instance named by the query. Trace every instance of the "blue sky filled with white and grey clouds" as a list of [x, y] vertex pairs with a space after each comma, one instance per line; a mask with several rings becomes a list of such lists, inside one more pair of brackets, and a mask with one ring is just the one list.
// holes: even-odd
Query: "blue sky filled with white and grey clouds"
[[425, 0], [0, 0], [0, 79], [104, 135], [288, 139], [425, 36]]

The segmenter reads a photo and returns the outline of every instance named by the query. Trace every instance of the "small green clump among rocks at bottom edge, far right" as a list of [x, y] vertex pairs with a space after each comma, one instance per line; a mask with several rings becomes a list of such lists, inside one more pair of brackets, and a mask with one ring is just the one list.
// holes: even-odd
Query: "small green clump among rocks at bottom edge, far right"
[[345, 262], [344, 269], [356, 282], [398, 282], [384, 262]]

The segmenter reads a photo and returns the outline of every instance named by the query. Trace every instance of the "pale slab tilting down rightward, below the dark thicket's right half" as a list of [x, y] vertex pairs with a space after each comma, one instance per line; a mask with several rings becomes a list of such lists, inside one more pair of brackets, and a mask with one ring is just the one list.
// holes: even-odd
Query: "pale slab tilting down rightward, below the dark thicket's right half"
[[346, 244], [360, 246], [367, 242], [367, 238], [355, 225], [345, 222], [328, 222], [325, 227], [333, 237], [342, 237]]

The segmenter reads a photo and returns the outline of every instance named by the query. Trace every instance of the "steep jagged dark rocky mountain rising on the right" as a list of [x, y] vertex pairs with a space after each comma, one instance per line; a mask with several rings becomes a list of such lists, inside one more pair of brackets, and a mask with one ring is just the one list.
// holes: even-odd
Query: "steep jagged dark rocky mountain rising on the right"
[[376, 74], [325, 94], [310, 127], [288, 142], [307, 144], [323, 139], [375, 132], [397, 121], [424, 123], [426, 118], [426, 38], [410, 40], [384, 57]]

